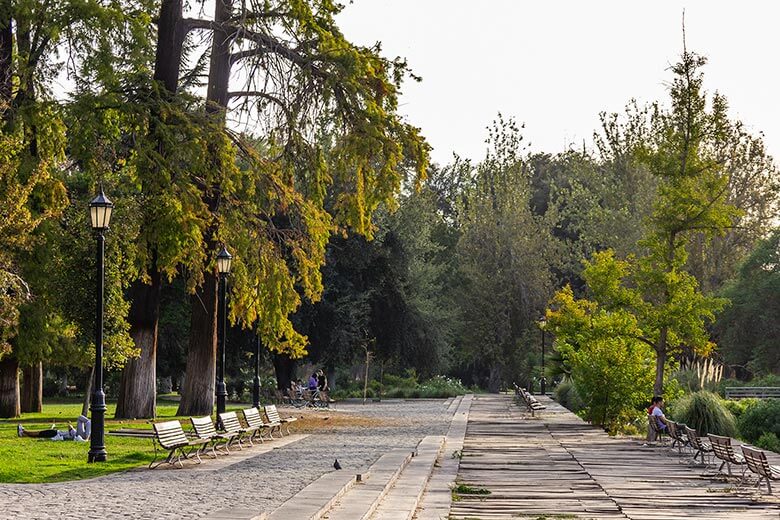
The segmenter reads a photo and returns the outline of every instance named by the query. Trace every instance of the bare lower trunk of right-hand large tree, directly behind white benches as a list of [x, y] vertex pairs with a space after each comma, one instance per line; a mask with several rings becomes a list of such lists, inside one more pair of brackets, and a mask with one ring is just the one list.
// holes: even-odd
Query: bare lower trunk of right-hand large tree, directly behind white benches
[[187, 373], [176, 415], [210, 415], [214, 411], [217, 375], [217, 275], [206, 273], [203, 286], [190, 298]]

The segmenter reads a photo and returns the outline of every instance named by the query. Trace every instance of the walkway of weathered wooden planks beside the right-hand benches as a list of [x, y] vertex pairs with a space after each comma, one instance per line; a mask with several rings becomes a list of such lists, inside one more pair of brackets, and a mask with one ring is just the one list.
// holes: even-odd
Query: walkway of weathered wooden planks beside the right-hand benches
[[609, 437], [540, 397], [531, 417], [508, 395], [475, 396], [458, 481], [489, 495], [462, 495], [450, 518], [780, 518], [780, 500], [692, 465], [666, 447]]

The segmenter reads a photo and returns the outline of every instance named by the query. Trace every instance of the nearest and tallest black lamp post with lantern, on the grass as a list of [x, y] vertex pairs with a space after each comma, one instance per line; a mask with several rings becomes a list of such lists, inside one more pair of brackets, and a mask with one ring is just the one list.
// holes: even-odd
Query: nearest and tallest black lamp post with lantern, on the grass
[[92, 229], [97, 234], [97, 314], [95, 320], [95, 381], [92, 389], [92, 433], [87, 462], [105, 462], [106, 394], [103, 392], [103, 285], [105, 277], [106, 237], [114, 204], [103, 190], [89, 203]]

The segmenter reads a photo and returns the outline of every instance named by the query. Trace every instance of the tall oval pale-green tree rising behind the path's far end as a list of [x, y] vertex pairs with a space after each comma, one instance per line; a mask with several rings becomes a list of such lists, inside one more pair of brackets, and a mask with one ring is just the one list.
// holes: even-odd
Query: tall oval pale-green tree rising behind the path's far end
[[502, 367], [515, 357], [552, 285], [553, 244], [548, 224], [531, 210], [521, 141], [513, 122], [494, 124], [492, 148], [465, 190], [460, 217], [458, 356], [491, 391], [515, 377]]

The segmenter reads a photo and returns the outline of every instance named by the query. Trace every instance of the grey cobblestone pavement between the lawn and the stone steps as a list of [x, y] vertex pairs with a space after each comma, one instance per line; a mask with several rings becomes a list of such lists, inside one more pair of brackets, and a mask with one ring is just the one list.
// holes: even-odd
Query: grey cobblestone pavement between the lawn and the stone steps
[[386, 419], [386, 424], [312, 433], [270, 451], [251, 448], [245, 453], [257, 450], [256, 455], [220, 457], [212, 467], [215, 461], [204, 459], [200, 466], [185, 464], [176, 470], [135, 470], [56, 484], [0, 484], [0, 519], [194, 519], [230, 509], [270, 513], [331, 472], [335, 458], [345, 473], [352, 472], [390, 450], [413, 450], [427, 435], [444, 435], [454, 413], [450, 403], [340, 403], [336, 410], [318, 413], [354, 413]]

